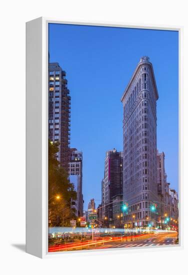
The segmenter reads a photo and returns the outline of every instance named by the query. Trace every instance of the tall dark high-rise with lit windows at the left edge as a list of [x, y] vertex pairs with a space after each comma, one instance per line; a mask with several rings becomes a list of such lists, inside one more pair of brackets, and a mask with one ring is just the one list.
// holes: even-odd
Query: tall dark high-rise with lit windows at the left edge
[[59, 63], [48, 64], [48, 137], [59, 142], [57, 159], [67, 170], [70, 139], [70, 96], [66, 73]]

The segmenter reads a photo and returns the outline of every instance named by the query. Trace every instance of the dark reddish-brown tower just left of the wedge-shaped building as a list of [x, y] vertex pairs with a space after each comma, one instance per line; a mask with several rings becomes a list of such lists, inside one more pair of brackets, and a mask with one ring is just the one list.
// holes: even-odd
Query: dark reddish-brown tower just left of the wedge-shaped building
[[114, 148], [106, 152], [104, 161], [104, 178], [102, 179], [102, 215], [112, 220], [112, 201], [122, 195], [122, 152]]

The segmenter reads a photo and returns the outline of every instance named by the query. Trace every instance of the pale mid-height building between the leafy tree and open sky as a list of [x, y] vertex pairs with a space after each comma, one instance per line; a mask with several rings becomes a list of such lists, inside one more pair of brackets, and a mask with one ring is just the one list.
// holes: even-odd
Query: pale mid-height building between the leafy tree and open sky
[[77, 216], [83, 214], [83, 195], [82, 195], [82, 152], [76, 148], [69, 149], [70, 158], [68, 162], [68, 174], [70, 182], [74, 184], [77, 192], [77, 199], [72, 200], [72, 207], [76, 210]]

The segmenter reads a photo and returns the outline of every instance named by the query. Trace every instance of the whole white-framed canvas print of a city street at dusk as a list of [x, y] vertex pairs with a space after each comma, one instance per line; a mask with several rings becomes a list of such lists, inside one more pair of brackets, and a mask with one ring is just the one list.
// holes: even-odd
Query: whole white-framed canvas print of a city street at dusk
[[26, 250], [182, 246], [181, 28], [26, 23]]

